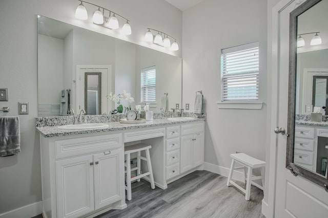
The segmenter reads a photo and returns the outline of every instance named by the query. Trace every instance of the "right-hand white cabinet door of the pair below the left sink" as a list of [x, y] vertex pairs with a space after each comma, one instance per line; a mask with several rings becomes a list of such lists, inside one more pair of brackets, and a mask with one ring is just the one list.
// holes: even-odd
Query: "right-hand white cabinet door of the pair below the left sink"
[[94, 155], [95, 209], [121, 200], [122, 154], [111, 150]]

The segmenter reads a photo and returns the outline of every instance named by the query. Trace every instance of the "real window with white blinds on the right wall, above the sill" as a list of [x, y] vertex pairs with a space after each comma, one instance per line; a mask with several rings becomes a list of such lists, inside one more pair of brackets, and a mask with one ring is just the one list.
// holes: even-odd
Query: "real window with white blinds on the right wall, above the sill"
[[221, 100], [258, 100], [258, 42], [221, 51]]

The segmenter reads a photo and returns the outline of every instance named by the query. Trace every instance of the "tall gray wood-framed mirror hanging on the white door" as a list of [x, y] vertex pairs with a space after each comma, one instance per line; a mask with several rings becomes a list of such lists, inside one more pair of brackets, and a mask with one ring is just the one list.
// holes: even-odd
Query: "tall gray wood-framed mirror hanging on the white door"
[[[322, 69], [328, 69], [328, 27], [324, 21], [328, 19], [327, 9], [328, 0], [308, 0], [290, 14], [289, 137], [286, 154], [286, 168], [326, 191], [328, 134], [323, 133], [328, 133], [328, 122], [323, 122], [326, 119], [325, 108], [322, 107], [326, 106], [328, 77]], [[313, 43], [317, 35], [321, 42]], [[319, 113], [313, 113], [313, 108]]]

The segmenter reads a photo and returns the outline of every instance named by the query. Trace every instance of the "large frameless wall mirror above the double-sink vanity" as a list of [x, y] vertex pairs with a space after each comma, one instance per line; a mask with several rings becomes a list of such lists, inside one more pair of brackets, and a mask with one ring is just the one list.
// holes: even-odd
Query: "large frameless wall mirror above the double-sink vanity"
[[[110, 114], [118, 105], [106, 95], [124, 90], [134, 98], [132, 109], [136, 104], [143, 107], [141, 70], [151, 66], [156, 69], [156, 97], [150, 110], [160, 112], [165, 93], [168, 108], [175, 108], [176, 103], [182, 105], [180, 57], [39, 16], [38, 116], [67, 116], [70, 108], [76, 114], [81, 109], [87, 114]], [[89, 81], [85, 81], [91, 75], [85, 76], [86, 72], [101, 73], [97, 92], [89, 90]], [[61, 96], [66, 91], [70, 96]], [[93, 104], [90, 108], [89, 103]], [[125, 100], [120, 103], [128, 106]]]

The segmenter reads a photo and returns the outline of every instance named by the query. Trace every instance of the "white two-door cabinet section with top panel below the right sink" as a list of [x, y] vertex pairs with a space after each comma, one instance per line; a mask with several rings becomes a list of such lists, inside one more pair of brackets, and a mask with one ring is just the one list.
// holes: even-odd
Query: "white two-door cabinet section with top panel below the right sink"
[[204, 123], [181, 125], [180, 173], [204, 162]]

